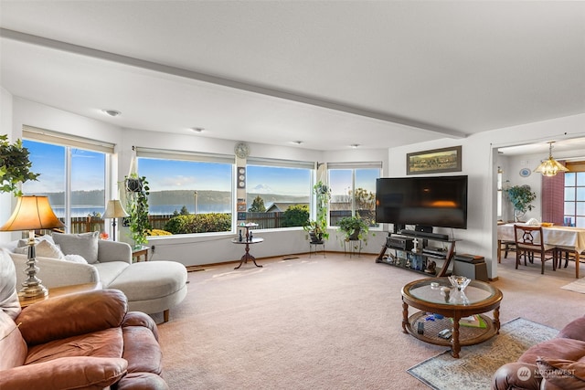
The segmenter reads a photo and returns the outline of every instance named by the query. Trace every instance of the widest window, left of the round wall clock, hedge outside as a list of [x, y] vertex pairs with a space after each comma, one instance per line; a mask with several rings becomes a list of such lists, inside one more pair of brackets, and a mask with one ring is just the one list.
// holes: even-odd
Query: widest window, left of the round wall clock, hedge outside
[[150, 188], [150, 222], [174, 235], [232, 229], [233, 156], [138, 148], [138, 174]]

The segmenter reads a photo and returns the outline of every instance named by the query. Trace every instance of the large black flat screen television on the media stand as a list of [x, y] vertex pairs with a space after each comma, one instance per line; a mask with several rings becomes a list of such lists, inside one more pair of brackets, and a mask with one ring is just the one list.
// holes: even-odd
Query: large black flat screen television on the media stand
[[376, 222], [466, 229], [467, 176], [379, 178]]

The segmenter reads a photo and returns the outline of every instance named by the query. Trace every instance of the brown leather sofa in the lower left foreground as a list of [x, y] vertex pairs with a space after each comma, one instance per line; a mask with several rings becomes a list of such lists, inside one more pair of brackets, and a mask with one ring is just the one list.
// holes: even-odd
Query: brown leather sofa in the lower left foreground
[[[50, 294], [50, 291], [49, 291]], [[21, 310], [0, 249], [0, 389], [168, 389], [154, 321], [120, 290], [49, 298]]]

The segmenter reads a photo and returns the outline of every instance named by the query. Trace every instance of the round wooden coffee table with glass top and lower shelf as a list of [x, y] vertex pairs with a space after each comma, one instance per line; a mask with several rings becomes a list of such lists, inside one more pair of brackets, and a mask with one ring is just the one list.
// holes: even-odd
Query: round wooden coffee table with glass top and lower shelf
[[[462, 346], [500, 332], [501, 300], [502, 291], [480, 280], [472, 280], [463, 295], [447, 278], [415, 280], [402, 288], [402, 329], [425, 343], [451, 346], [458, 358]], [[409, 306], [420, 311], [409, 316]], [[487, 311], [494, 311], [494, 319]]]

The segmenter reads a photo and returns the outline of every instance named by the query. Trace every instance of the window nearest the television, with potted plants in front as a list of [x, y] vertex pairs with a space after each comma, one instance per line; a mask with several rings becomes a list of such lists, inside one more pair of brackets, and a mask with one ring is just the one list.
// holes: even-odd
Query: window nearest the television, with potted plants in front
[[335, 227], [344, 216], [359, 216], [371, 227], [376, 224], [376, 179], [381, 163], [330, 163], [331, 202], [329, 225]]

